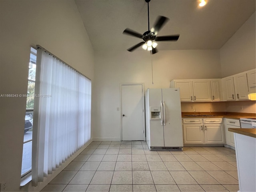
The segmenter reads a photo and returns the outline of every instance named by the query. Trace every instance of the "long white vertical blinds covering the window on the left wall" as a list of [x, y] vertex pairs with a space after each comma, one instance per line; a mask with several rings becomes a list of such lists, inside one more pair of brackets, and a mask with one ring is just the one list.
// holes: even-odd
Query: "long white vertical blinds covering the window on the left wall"
[[42, 49], [36, 65], [33, 186], [91, 137], [91, 81]]

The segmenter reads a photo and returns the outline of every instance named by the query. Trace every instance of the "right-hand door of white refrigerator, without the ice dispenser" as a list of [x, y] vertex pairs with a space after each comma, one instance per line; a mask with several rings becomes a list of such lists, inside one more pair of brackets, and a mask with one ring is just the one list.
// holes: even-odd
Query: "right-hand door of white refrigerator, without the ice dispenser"
[[162, 89], [164, 102], [164, 146], [183, 147], [180, 89]]

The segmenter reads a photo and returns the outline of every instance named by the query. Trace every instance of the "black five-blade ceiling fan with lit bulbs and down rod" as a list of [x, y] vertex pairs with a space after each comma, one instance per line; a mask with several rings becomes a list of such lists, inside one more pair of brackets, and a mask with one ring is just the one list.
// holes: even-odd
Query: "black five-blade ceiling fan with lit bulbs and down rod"
[[[150, 0], [145, 0], [145, 2], [149, 3]], [[149, 50], [152, 52], [152, 54], [155, 54], [158, 52], [156, 49], [157, 43], [154, 41], [177, 41], [179, 38], [179, 34], [177, 35], [170, 35], [170, 36], [156, 36], [158, 31], [164, 26], [164, 24], [168, 21], [169, 19], [164, 16], [158, 16], [156, 23], [154, 24], [154, 27], [152, 27], [149, 30], [149, 4], [148, 4], [148, 31], [144, 32], [144, 34], [140, 34], [134, 30], [131, 30], [129, 28], [126, 28], [123, 32], [123, 34], [131, 35], [134, 37], [141, 38], [143, 41], [132, 46], [131, 48], [128, 49], [128, 51], [132, 52], [136, 48], [142, 46], [143, 49]]]

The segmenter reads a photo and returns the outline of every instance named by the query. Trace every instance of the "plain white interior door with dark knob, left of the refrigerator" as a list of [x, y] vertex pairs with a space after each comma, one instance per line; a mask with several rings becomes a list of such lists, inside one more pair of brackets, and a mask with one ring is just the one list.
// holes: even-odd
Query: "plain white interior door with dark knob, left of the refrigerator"
[[144, 140], [142, 84], [122, 85], [122, 140]]

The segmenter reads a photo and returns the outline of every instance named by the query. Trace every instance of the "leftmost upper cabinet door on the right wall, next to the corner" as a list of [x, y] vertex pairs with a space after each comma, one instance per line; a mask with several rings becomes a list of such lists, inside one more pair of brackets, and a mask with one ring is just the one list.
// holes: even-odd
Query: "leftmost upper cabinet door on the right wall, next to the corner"
[[222, 79], [223, 96], [225, 100], [236, 100], [234, 79], [233, 77], [227, 77]]

